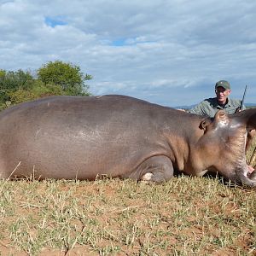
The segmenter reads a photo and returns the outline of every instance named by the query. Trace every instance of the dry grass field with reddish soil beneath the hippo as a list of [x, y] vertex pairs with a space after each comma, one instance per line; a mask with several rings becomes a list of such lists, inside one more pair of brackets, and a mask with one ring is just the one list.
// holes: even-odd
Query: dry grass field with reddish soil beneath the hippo
[[0, 193], [0, 255], [256, 255], [256, 189], [217, 177], [27, 179]]

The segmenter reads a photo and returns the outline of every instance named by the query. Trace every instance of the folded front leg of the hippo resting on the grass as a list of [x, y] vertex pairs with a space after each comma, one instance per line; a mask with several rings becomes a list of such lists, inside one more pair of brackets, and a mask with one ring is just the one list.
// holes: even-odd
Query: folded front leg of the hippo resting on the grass
[[173, 177], [172, 161], [164, 155], [145, 160], [137, 169], [139, 180], [161, 183]]

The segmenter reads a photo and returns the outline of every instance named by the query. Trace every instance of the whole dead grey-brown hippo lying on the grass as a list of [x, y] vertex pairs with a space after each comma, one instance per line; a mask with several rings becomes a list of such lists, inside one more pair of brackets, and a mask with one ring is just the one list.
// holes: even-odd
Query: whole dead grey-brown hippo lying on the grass
[[128, 96], [53, 96], [0, 113], [2, 178], [131, 177], [167, 181], [173, 170], [210, 170], [256, 186], [247, 173], [247, 130], [256, 109], [214, 119]]

